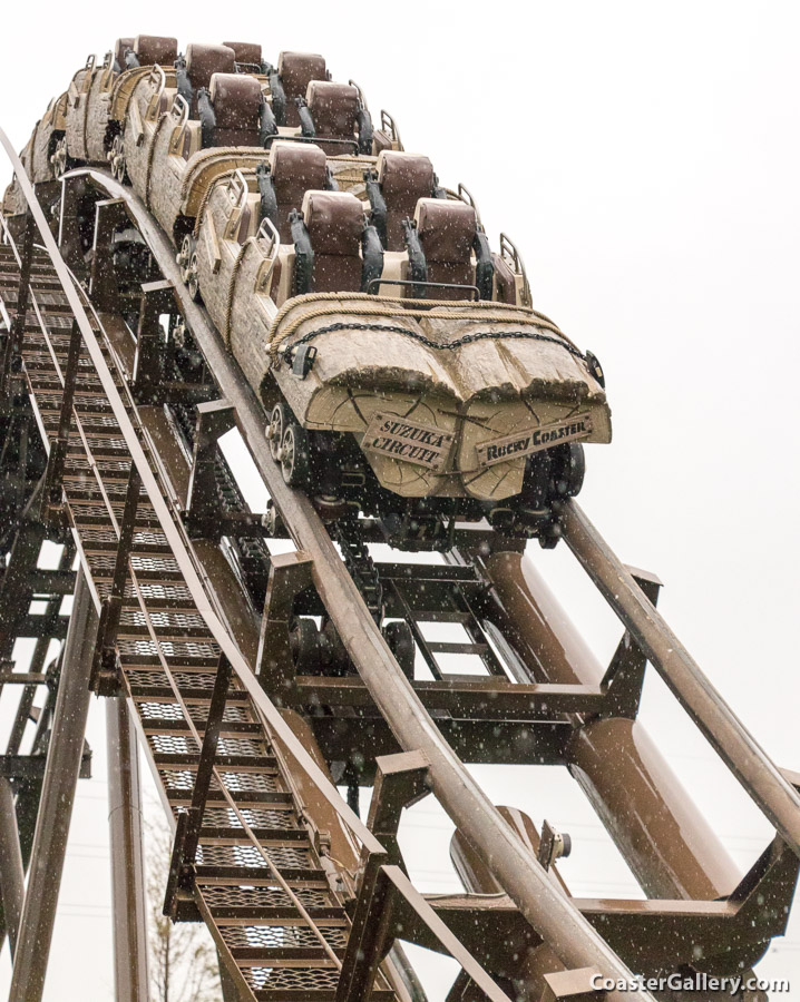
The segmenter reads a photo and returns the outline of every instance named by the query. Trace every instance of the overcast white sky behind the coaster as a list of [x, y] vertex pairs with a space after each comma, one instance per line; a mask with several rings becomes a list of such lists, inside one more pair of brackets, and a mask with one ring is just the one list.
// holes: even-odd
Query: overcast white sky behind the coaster
[[[581, 501], [623, 560], [662, 577], [679, 636], [800, 769], [799, 29], [800, 8], [780, 2], [7, 4], [0, 126], [21, 147], [120, 35], [323, 52], [442, 183], [467, 185], [492, 243], [503, 229], [520, 247], [535, 305], [602, 360], [614, 442], [588, 448]], [[607, 660], [618, 625], [566, 549], [534, 557]], [[657, 681], [643, 717], [748, 868], [769, 826]], [[94, 707], [96, 778], [80, 785], [48, 1002], [111, 999], [103, 721]], [[568, 777], [479, 772], [498, 803], [573, 833], [575, 893], [635, 892]], [[423, 890], [458, 886], [448, 838], [423, 803], [406, 833]], [[799, 926], [760, 969], [794, 974], [782, 998], [800, 999]], [[0, 996], [8, 971], [6, 949]]]

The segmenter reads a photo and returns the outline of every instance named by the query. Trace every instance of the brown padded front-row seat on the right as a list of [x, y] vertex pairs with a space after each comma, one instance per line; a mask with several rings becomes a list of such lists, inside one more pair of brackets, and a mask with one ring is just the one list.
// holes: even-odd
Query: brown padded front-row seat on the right
[[[475, 285], [472, 240], [478, 220], [471, 205], [443, 198], [420, 198], [414, 222], [428, 264], [428, 282], [451, 282]], [[469, 289], [437, 288], [430, 291], [437, 299], [471, 298]]]

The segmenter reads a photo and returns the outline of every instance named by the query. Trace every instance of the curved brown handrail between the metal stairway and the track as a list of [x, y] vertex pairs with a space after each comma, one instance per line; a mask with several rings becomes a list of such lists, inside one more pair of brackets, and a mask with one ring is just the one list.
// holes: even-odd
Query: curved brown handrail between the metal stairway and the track
[[[287, 749], [289, 754], [294, 758], [297, 765], [304, 770], [309, 779], [314, 784], [316, 790], [321, 793], [322, 796], [324, 796], [329, 805], [332, 806], [335, 813], [339, 815], [340, 819], [359, 839], [363, 847], [363, 852], [370, 856], [386, 858], [386, 849], [383, 848], [382, 844], [363, 824], [355, 812], [353, 812], [344, 803], [335, 786], [325, 776], [323, 770], [314, 762], [310, 753], [296, 737], [292, 728], [283, 719], [279, 709], [263, 690], [261, 684], [242, 656], [238, 647], [232, 639], [224, 623], [218, 618], [216, 611], [212, 608], [209, 597], [206, 593], [199, 574], [195, 568], [194, 558], [187, 547], [185, 539], [182, 536], [182, 531], [173, 520], [169, 507], [163, 497], [162, 487], [156, 478], [156, 474], [153, 472], [150, 463], [147, 460], [147, 455], [142, 446], [142, 443], [139, 442], [131, 418], [126, 410], [126, 405], [119, 394], [119, 391], [117, 390], [114, 376], [103, 354], [100, 343], [97, 340], [97, 335], [91, 327], [91, 323], [81, 302], [79, 286], [77, 285], [75, 278], [71, 276], [67, 264], [61, 257], [60, 250], [47, 224], [47, 219], [45, 218], [41, 206], [39, 205], [39, 202], [36, 197], [36, 193], [33, 191], [33, 187], [28, 176], [26, 175], [13, 147], [11, 146], [8, 137], [6, 136], [6, 132], [2, 129], [0, 129], [0, 143], [2, 143], [12, 167], [18, 173], [19, 184], [22, 189], [22, 194], [25, 195], [26, 202], [28, 203], [28, 206], [30, 208], [32, 222], [36, 223], [36, 226], [42, 237], [45, 249], [50, 257], [50, 262], [72, 311], [75, 322], [80, 330], [84, 343], [89, 352], [92, 364], [97, 372], [97, 376], [106, 394], [108, 404], [114, 412], [114, 416], [117, 421], [117, 424], [119, 425], [123, 438], [125, 439], [126, 446], [130, 452], [131, 463], [139, 474], [142, 487], [144, 488], [148, 501], [150, 502], [150, 505], [153, 507], [153, 510], [158, 518], [162, 531], [164, 532], [164, 537], [170, 550], [173, 551], [175, 561], [182, 572], [184, 582], [186, 583], [186, 587], [192, 596], [192, 600], [197, 607], [197, 611], [202, 616], [205, 625], [208, 627], [208, 630], [212, 633], [215, 642], [218, 645], [222, 656], [227, 658], [232, 668], [238, 676], [240, 681], [253, 700], [258, 715], [262, 717], [263, 723], [267, 731], [273, 736], [273, 739], [275, 736], [280, 738], [280, 741]], [[160, 651], [160, 646], [158, 644], [157, 647]], [[195, 737], [198, 738], [198, 735], [195, 735]], [[240, 822], [245, 824], [248, 835], [254, 838], [252, 828], [248, 824], [246, 824], [244, 816], [238, 811], [236, 811], [236, 814]], [[262, 855], [264, 855], [264, 858], [267, 859], [267, 864], [270, 864], [266, 853], [262, 851]], [[274, 871], [274, 867], [272, 868]], [[409, 896], [408, 891], [402, 882], [396, 882], [396, 886], [398, 892], [407, 897], [407, 900], [409, 900], [409, 903], [413, 905], [414, 900], [412, 896]], [[431, 918], [430, 916], [421, 917], [423, 917], [423, 921], [427, 922], [435, 934], [438, 934], [440, 932], [436, 924], [436, 916], [433, 916], [433, 918]], [[313, 922], [310, 918], [309, 922], [313, 927]], [[480, 972], [484, 975], [481, 980], [484, 981], [486, 988], [491, 988], [489, 994], [492, 999], [492, 1002], [510, 1002], [510, 999], [508, 999], [505, 992], [503, 992], [499, 986], [497, 986], [496, 983], [488, 975], [486, 975], [484, 969], [477, 963], [477, 961], [475, 961], [469, 951], [467, 951], [466, 947], [464, 947], [462, 944], [460, 944], [458, 941], [455, 942], [457, 944], [457, 959], [460, 963], [466, 962], [469, 967], [474, 969], [476, 972]], [[328, 949], [326, 945], [325, 949]], [[336, 963], [339, 963], [338, 959], [334, 957], [334, 960], [336, 961]], [[625, 973], [627, 973], [626, 969], [623, 970], [625, 971]], [[632, 995], [631, 998], [635, 999], [636, 996]], [[642, 995], [643, 1000], [648, 998], [648, 995]]]

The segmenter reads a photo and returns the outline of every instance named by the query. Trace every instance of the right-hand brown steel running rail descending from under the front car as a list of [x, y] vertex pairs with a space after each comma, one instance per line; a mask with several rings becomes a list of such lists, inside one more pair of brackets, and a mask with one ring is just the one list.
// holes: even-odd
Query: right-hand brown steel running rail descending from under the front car
[[574, 500], [564, 505], [563, 524], [569, 549], [650, 662], [755, 804], [800, 856], [800, 796], [797, 790], [711, 685]]

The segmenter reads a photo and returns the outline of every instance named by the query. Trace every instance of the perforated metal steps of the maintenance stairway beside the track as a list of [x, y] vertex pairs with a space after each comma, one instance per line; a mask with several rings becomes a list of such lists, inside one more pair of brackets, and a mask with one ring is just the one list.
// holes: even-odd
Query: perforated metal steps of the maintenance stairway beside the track
[[[0, 253], [0, 294], [13, 267]], [[55, 275], [37, 261], [23, 342], [25, 373], [49, 448], [56, 441], [71, 320]], [[3, 295], [6, 302], [12, 302]], [[113, 357], [107, 350], [107, 357]], [[58, 364], [59, 369], [56, 367]], [[59, 371], [60, 370], [60, 371]], [[123, 387], [120, 373], [115, 382]], [[79, 361], [62, 485], [84, 566], [100, 597], [114, 577], [130, 455], [88, 353]], [[115, 524], [116, 523], [116, 524]], [[219, 650], [143, 493], [125, 584], [117, 651], [123, 681], [146, 736], [152, 765], [173, 814], [188, 806], [216, 678]], [[135, 578], [135, 580], [134, 580]], [[347, 947], [349, 920], [326, 877], [312, 832], [301, 823], [291, 784], [254, 706], [236, 678], [228, 687], [195, 856], [195, 898], [240, 989], [253, 1000], [333, 1002], [332, 959]], [[222, 784], [222, 785], [221, 785]], [[255, 834], [256, 848], [231, 807]], [[309, 908], [303, 917], [272, 867]], [[325, 945], [326, 944], [326, 947]], [[244, 998], [244, 993], [242, 994]], [[396, 995], [382, 974], [373, 999]]]

